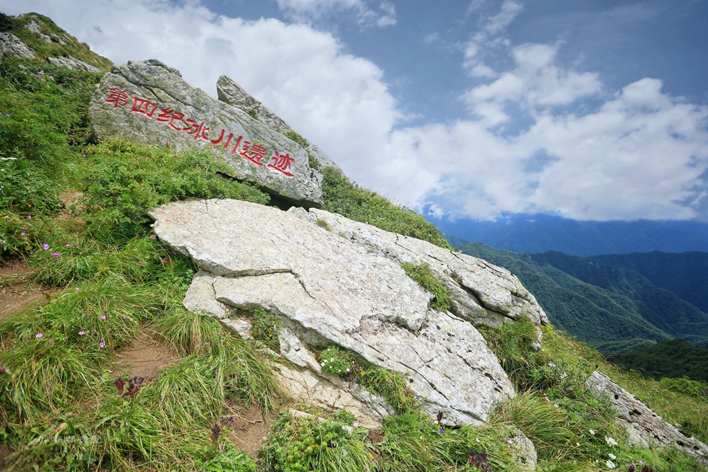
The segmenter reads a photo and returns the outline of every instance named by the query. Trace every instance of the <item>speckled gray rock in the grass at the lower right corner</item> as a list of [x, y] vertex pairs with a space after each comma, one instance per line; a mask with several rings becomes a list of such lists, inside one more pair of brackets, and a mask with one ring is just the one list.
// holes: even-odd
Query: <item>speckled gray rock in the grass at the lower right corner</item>
[[607, 396], [617, 409], [617, 421], [627, 429], [632, 445], [649, 447], [649, 444], [675, 447], [689, 456], [708, 464], [708, 446], [687, 437], [661, 416], [650, 410], [624, 388], [617, 385], [610, 377], [598, 371], [593, 372], [586, 381], [590, 390], [598, 396]]

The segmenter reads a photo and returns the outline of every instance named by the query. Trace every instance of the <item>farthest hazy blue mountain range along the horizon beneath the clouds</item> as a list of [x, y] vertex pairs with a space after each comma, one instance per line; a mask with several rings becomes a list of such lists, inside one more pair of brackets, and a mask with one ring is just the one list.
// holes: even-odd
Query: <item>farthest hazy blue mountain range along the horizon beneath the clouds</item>
[[496, 221], [426, 218], [457, 238], [518, 253], [708, 252], [708, 224], [699, 221], [577, 221], [547, 214], [506, 214]]

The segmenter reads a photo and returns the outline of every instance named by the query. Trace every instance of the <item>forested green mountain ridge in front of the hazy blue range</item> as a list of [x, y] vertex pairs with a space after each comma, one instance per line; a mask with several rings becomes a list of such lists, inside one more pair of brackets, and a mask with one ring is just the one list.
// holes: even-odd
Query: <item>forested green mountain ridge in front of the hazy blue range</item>
[[[630, 352], [673, 338], [708, 344], [708, 313], [636, 270], [557, 251], [513, 253], [481, 243], [457, 249], [506, 267], [555, 326], [602, 352]], [[702, 275], [707, 273], [705, 267]]]

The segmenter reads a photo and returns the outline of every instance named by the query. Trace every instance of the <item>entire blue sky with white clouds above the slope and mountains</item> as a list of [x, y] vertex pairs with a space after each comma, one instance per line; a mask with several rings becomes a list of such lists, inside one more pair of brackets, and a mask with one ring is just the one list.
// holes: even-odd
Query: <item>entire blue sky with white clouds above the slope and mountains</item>
[[708, 221], [708, 2], [0, 0], [116, 63], [230, 76], [362, 186], [450, 218]]

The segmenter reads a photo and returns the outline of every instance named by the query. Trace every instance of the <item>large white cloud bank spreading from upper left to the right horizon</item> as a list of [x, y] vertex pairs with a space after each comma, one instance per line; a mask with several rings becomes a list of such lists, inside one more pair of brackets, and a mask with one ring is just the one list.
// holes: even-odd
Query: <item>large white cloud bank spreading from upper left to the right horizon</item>
[[[114, 62], [160, 59], [212, 95], [219, 75], [232, 77], [350, 178], [411, 207], [478, 218], [708, 214], [708, 107], [664, 93], [658, 79], [607, 91], [598, 74], [559, 62], [561, 44], [508, 47], [506, 70], [474, 64], [487, 83], [464, 93], [470, 117], [404, 126], [382, 69], [307, 23], [228, 18], [198, 1], [17, 3], [0, 0], [0, 10], [45, 14]], [[515, 8], [487, 16], [482, 33], [510, 24]], [[484, 34], [461, 63], [508, 41]]]

